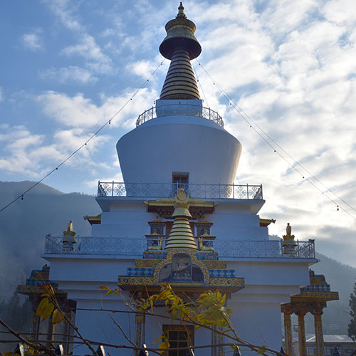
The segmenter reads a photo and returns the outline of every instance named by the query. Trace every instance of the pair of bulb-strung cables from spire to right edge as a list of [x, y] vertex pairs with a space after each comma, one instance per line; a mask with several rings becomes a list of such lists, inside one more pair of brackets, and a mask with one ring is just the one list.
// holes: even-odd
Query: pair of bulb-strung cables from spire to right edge
[[[266, 144], [267, 144], [269, 147], [272, 148], [272, 150], [273, 150], [274, 152], [276, 152], [284, 161], [286, 161], [286, 162], [288, 163], [288, 165], [289, 165], [292, 169], [295, 170], [295, 172], [298, 172], [298, 174], [300, 174], [300, 176], [301, 176], [303, 179], [305, 179], [306, 181], [308, 181], [315, 189], [318, 189], [318, 191], [319, 191], [321, 194], [325, 195], [325, 197], [327, 197], [331, 202], [333, 202], [333, 204], [335, 204], [335, 206], [337, 207], [337, 210], [341, 209], [341, 210], [344, 211], [346, 214], [348, 214], [349, 216], [351, 216], [353, 219], [356, 220], [356, 217], [355, 217], [355, 216], [353, 216], [352, 214], [350, 214], [350, 212], [347, 211], [346, 209], [344, 209], [342, 206], [340, 206], [340, 204], [337, 204], [337, 202], [336, 202], [334, 199], [330, 198], [330, 197], [328, 196], [328, 194], [325, 194], [325, 192], [323, 192], [323, 190], [320, 189], [316, 184], [314, 184], [308, 177], [305, 177], [305, 174], [303, 174], [303, 172], [300, 172], [300, 170], [298, 170], [298, 169], [295, 167], [295, 165], [298, 165], [301, 169], [304, 170], [304, 172], [308, 173], [308, 174], [310, 175], [310, 177], [313, 177], [313, 179], [315, 179], [315, 181], [317, 181], [320, 185], [322, 185], [323, 187], [325, 187], [325, 189], [327, 189], [328, 192], [330, 192], [330, 193], [333, 194], [337, 199], [339, 199], [340, 201], [342, 201], [342, 203], [344, 203], [345, 205], [349, 206], [350, 209], [352, 209], [353, 211], [356, 211], [356, 209], [355, 209], [353, 206], [351, 206], [350, 204], [348, 204], [347, 201], [345, 201], [345, 200], [342, 199], [338, 194], [336, 194], [335, 192], [333, 192], [333, 190], [330, 189], [329, 187], [327, 187], [325, 184], [323, 184], [323, 182], [320, 182], [320, 179], [318, 179], [317, 177], [315, 177], [314, 174], [310, 173], [310, 172], [308, 171], [308, 169], [305, 169], [305, 167], [303, 167], [303, 165], [300, 164], [297, 160], [295, 160], [295, 159], [293, 158], [293, 156], [291, 156], [288, 152], [286, 152], [286, 150], [284, 150], [283, 147], [281, 147], [281, 145], [278, 145], [278, 143], [277, 143], [275, 140], [273, 140], [273, 138], [272, 138], [270, 135], [268, 135], [267, 132], [264, 131], [264, 130], [262, 129], [262, 127], [259, 126], [248, 114], [246, 114], [246, 112], [235, 102], [234, 99], [231, 98], [231, 96], [230, 96], [228, 93], [226, 93], [226, 91], [225, 91], [223, 88], [221, 88], [221, 85], [219, 85], [219, 83], [216, 83], [216, 80], [208, 73], [208, 71], [204, 68], [204, 66], [203, 66], [197, 59], [196, 59], [196, 61], [197, 61], [197, 63], [199, 64], [199, 66], [201, 66], [201, 68], [204, 70], [204, 72], [205, 72], [206, 75], [209, 77], [209, 79], [213, 82], [213, 84], [216, 85], [216, 88], [219, 89], [219, 91], [220, 91], [221, 94], [224, 96], [224, 98], [226, 98], [226, 100], [229, 101], [229, 104], [236, 110], [236, 112], [239, 113], [239, 115], [242, 117], [242, 119], [244, 119], [245, 122], [248, 123], [248, 125], [250, 126], [250, 128], [252, 128], [252, 129], [261, 137], [261, 139], [262, 139], [264, 142], [266, 142]], [[254, 126], [256, 126], [256, 127], [258, 128], [258, 130], [260, 130], [262, 133], [261, 133], [261, 132], [258, 132], [258, 130], [256, 130], [256, 127], [254, 127]], [[288, 156], [288, 157], [292, 160], [293, 164], [290, 163], [290, 162], [288, 161], [288, 159], [286, 159], [286, 157], [284, 157], [284, 156], [281, 154], [281, 152], [278, 152], [278, 150], [276, 149], [276, 147], [273, 146], [273, 145], [271, 144], [271, 142], [268, 142], [268, 140], [266, 139], [266, 137], [263, 137], [263, 135], [265, 135], [265, 136], [268, 138], [268, 140], [270, 140], [270, 141], [271, 141], [276, 147], [278, 147], [286, 156]]]

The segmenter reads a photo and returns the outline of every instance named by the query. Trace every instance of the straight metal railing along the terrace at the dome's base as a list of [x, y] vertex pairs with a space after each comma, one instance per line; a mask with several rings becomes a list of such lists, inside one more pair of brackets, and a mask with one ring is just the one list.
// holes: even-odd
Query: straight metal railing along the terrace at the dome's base
[[262, 200], [262, 184], [182, 184], [99, 182], [98, 197], [174, 197], [179, 189], [194, 199]]

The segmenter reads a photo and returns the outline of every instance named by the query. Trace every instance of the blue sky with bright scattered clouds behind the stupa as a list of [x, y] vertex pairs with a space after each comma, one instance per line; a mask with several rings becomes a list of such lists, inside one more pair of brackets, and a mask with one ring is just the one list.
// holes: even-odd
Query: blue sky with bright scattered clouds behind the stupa
[[[111, 124], [43, 183], [96, 194], [99, 179], [122, 181], [115, 144], [159, 98], [169, 61], [159, 66], [158, 48], [178, 5], [1, 1], [1, 181], [41, 179], [159, 67]], [[219, 112], [243, 146], [236, 184], [263, 184], [260, 216], [276, 219], [270, 234], [282, 236], [289, 222], [295, 239], [315, 239], [320, 253], [356, 267], [355, 0], [183, 5], [197, 25], [199, 62], [254, 122], [250, 127], [192, 61], [204, 106]], [[267, 145], [258, 127], [279, 147]]]

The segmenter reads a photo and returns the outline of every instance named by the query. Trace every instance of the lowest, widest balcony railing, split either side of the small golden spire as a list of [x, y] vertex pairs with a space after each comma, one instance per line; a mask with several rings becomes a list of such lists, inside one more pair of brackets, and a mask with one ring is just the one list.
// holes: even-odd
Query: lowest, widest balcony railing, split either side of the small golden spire
[[[119, 237], [61, 237], [46, 236], [46, 254], [142, 256], [157, 239]], [[293, 241], [293, 249], [286, 253], [283, 241], [214, 240], [209, 246], [219, 253], [219, 258], [315, 258], [314, 240]], [[162, 244], [164, 249], [164, 241]], [[209, 251], [200, 251], [209, 253]]]

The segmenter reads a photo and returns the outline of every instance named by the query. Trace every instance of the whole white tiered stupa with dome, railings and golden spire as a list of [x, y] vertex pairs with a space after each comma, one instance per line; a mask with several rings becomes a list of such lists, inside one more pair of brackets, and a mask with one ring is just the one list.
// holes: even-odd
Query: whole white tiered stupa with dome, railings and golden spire
[[[286, 248], [268, 238], [272, 220], [258, 216], [262, 186], [234, 184], [241, 144], [200, 99], [190, 61], [201, 47], [182, 4], [166, 30], [159, 51], [171, 64], [160, 98], [117, 142], [124, 182], [99, 182], [103, 212], [87, 217], [92, 236], [75, 237], [72, 244], [67, 238], [66, 248], [63, 238], [48, 237], [43, 257], [51, 262], [51, 281], [76, 301], [76, 323], [89, 340], [127, 344], [109, 311], [91, 310], [125, 310], [120, 297], [105, 298], [98, 287], [118, 285], [130, 299], [169, 282], [186, 293], [219, 288], [229, 297], [239, 336], [280, 350], [281, 304], [309, 284], [313, 241], [291, 239]], [[137, 345], [152, 345], [162, 332], [172, 342], [179, 333], [187, 337], [187, 329], [166, 319], [113, 317]], [[216, 345], [195, 350], [197, 356], [231, 351], [216, 333], [188, 332], [193, 347]], [[85, 346], [75, 349], [76, 355], [88, 353]]]

